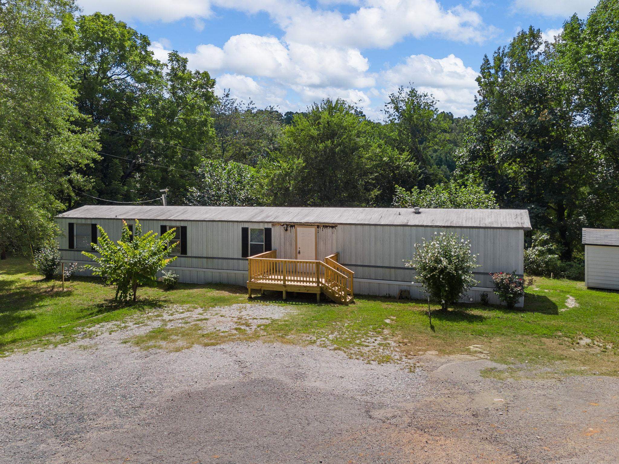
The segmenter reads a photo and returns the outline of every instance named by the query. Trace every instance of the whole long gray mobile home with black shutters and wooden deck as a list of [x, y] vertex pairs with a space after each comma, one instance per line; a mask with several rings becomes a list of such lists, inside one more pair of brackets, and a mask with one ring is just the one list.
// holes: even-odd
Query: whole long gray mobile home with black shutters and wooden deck
[[[397, 296], [408, 290], [412, 298], [424, 298], [404, 260], [412, 258], [422, 238], [454, 231], [470, 239], [481, 265], [475, 271], [478, 284], [464, 300], [478, 301], [485, 292], [498, 303], [489, 273], [522, 275], [524, 231], [530, 230], [527, 210], [84, 206], [56, 217], [64, 232], [58, 239], [63, 260], [86, 260], [80, 252], [96, 241], [95, 225], [119, 239], [122, 220], [132, 226], [135, 219], [143, 231], [176, 228], [180, 246], [170, 269], [183, 282], [246, 285], [251, 293], [274, 290], [282, 278], [307, 291], [312, 276], [319, 287], [329, 277], [343, 288], [338, 290], [342, 302], [352, 299], [353, 291]], [[335, 299], [328, 290], [323, 293]]]

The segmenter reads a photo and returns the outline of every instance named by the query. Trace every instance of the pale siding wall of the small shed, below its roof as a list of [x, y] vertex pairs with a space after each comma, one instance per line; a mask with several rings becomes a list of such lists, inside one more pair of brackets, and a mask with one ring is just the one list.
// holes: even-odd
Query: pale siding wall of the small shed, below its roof
[[619, 290], [619, 247], [585, 245], [585, 285]]

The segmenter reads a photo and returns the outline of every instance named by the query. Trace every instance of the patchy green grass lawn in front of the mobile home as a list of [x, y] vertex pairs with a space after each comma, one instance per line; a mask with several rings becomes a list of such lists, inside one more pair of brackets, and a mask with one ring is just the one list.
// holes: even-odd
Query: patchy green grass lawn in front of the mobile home
[[[247, 302], [245, 288], [225, 285], [180, 284], [171, 291], [148, 286], [140, 288], [136, 304], [126, 305], [116, 304], [113, 296], [114, 289], [95, 278], [76, 278], [63, 292], [58, 280], [45, 281], [27, 260], [9, 257], [0, 262], [0, 352], [66, 342], [87, 326], [153, 314], [171, 305], [208, 309]], [[566, 305], [569, 296], [578, 306]], [[460, 305], [441, 314], [433, 306], [432, 327], [427, 305], [420, 301], [357, 296], [355, 304], [340, 306], [316, 304], [309, 298], [282, 302], [275, 293], [254, 301], [295, 309], [290, 316], [262, 327], [264, 340], [317, 343], [378, 362], [389, 361], [391, 354], [376, 348], [390, 344], [410, 359], [427, 351], [482, 354], [516, 366], [509, 371], [514, 377], [527, 369], [561, 375], [619, 375], [619, 293], [587, 290], [578, 281], [536, 278], [527, 290], [524, 311]], [[172, 332], [156, 329], [147, 337], [149, 346], [158, 346], [153, 344], [158, 338], [165, 342], [184, 332], [192, 338], [188, 335], [183, 346], [191, 346], [199, 326], [191, 327]], [[176, 335], [171, 337], [172, 333]], [[235, 337], [216, 338], [223, 343], [243, 337], [239, 332]], [[256, 334], [251, 337], [255, 339]], [[202, 344], [219, 343], [204, 334], [200, 339]], [[591, 342], [584, 343], [584, 339]], [[472, 345], [478, 345], [474, 351]]]

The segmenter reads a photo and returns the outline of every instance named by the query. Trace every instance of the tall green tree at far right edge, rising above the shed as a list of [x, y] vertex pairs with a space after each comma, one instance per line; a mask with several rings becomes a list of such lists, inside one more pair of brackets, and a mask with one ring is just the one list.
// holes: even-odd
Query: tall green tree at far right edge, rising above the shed
[[601, 0], [586, 20], [574, 15], [550, 48], [578, 123], [573, 143], [589, 153], [586, 207], [592, 226], [619, 227], [619, 1]]

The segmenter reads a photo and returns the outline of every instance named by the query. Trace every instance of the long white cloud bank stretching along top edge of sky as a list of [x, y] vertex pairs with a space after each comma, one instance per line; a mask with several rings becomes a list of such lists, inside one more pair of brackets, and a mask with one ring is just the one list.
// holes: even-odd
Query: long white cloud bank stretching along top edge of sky
[[[525, 0], [517, 0], [525, 1]], [[482, 42], [495, 33], [475, 11], [463, 6], [444, 9], [437, 0], [322, 0], [313, 9], [295, 0], [79, 0], [85, 13], [111, 12], [119, 19], [171, 22], [202, 19], [213, 7], [247, 14], [266, 12], [285, 33], [287, 42], [328, 44], [350, 48], [387, 48], [405, 37], [437, 35], [464, 42]], [[332, 9], [337, 4], [358, 8], [350, 15]]]

